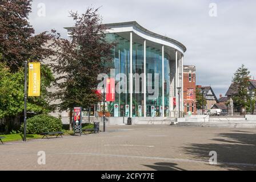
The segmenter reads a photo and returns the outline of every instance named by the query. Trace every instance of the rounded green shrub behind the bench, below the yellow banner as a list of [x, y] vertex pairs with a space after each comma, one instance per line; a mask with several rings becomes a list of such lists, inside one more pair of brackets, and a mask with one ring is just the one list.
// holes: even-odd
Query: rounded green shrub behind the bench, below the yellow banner
[[[21, 126], [23, 131], [24, 125]], [[41, 114], [27, 119], [27, 134], [42, 134], [43, 132], [54, 132], [62, 130], [61, 119], [50, 115]]]

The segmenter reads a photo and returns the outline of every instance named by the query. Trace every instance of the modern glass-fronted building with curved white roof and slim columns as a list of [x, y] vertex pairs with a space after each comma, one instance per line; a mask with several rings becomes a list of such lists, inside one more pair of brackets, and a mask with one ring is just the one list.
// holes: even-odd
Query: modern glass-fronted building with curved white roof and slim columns
[[[183, 55], [177, 40], [155, 34], [137, 22], [105, 24], [106, 39], [117, 43], [109, 77], [115, 80], [111, 117], [178, 117], [183, 113]], [[67, 28], [71, 31], [71, 28]], [[178, 89], [180, 88], [180, 89]], [[95, 106], [94, 114], [102, 104]]]

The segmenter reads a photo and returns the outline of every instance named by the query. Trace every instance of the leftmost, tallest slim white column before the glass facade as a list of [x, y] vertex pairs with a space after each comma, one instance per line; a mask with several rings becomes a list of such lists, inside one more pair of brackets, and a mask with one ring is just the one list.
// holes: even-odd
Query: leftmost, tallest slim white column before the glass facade
[[133, 117], [133, 32], [130, 32], [130, 117]]

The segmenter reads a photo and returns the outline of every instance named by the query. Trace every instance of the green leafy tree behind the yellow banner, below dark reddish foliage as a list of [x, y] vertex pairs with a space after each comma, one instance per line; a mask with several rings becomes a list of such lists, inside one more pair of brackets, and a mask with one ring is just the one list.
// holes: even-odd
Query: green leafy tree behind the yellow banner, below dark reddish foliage
[[[53, 110], [50, 106], [50, 93], [47, 88], [54, 81], [53, 73], [46, 65], [41, 66], [41, 96], [27, 98], [27, 111], [36, 114], [46, 114]], [[24, 69], [15, 73], [5, 64], [0, 63], [0, 118], [18, 117], [24, 110]], [[6, 131], [7, 132], [7, 131]]]

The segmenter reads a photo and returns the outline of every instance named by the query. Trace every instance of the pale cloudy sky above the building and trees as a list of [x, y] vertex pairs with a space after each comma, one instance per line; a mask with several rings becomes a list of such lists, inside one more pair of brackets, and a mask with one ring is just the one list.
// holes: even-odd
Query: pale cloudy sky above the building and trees
[[34, 0], [29, 21], [36, 34], [73, 26], [69, 12], [100, 7], [102, 23], [137, 21], [187, 47], [184, 64], [195, 65], [197, 85], [223, 96], [234, 72], [245, 64], [256, 79], [255, 0]]

